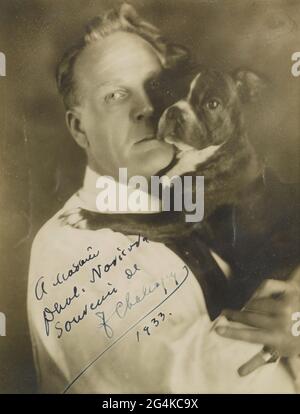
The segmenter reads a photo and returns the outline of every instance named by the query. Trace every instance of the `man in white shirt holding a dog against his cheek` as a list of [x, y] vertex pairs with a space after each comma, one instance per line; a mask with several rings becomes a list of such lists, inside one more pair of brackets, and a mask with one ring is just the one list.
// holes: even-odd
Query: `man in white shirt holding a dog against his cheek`
[[294, 392], [281, 362], [239, 376], [263, 341], [218, 335], [195, 275], [163, 243], [76, 228], [76, 214], [61, 220], [97, 211], [99, 175], [117, 179], [122, 167], [149, 179], [170, 164], [146, 85], [185, 58], [125, 4], [96, 18], [59, 66], [66, 122], [88, 165], [82, 189], [32, 247], [28, 315], [42, 392]]

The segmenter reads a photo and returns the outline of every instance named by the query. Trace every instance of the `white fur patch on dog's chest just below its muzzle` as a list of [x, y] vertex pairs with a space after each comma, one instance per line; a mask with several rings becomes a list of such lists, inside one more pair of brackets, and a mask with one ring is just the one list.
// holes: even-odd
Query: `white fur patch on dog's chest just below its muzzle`
[[174, 167], [171, 168], [166, 175], [169, 178], [172, 178], [176, 175], [180, 176], [187, 172], [196, 171], [199, 165], [203, 164], [210, 157], [212, 157], [222, 145], [223, 144], [210, 145], [203, 150], [186, 149], [185, 151], [182, 151], [179, 154], [177, 164], [174, 165]]

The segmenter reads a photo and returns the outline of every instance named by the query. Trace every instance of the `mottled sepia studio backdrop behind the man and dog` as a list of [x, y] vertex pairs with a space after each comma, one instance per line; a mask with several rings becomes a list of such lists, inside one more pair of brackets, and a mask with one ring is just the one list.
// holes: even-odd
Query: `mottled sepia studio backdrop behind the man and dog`
[[[198, 61], [246, 68], [268, 82], [247, 109], [251, 140], [285, 181], [299, 177], [299, 0], [131, 0]], [[0, 393], [35, 391], [26, 319], [30, 246], [41, 225], [79, 187], [84, 157], [64, 123], [54, 72], [64, 50], [112, 0], [0, 0]], [[46, 271], [47, 269], [45, 269]]]

